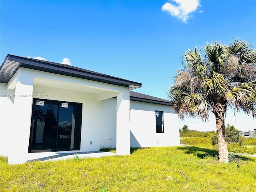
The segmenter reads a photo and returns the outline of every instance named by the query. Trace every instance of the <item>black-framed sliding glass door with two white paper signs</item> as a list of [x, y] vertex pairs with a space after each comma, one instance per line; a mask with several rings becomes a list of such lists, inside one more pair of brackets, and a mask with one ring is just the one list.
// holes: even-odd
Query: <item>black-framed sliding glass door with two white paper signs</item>
[[82, 104], [33, 100], [28, 152], [80, 150]]

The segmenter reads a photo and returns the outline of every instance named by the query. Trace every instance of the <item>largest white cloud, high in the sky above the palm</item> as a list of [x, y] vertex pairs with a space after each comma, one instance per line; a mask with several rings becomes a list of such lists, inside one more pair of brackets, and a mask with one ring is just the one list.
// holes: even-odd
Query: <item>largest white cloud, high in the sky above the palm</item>
[[173, 3], [165, 3], [162, 11], [168, 12], [171, 16], [176, 17], [182, 22], [187, 23], [190, 14], [200, 6], [200, 0], [172, 0]]

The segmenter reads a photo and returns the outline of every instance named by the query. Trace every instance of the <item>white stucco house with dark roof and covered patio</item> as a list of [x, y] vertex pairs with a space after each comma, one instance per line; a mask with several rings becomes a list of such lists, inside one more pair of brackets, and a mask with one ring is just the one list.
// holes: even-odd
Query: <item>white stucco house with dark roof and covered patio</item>
[[133, 92], [142, 84], [54, 62], [7, 55], [0, 67], [0, 155], [90, 152], [180, 144], [168, 100]]

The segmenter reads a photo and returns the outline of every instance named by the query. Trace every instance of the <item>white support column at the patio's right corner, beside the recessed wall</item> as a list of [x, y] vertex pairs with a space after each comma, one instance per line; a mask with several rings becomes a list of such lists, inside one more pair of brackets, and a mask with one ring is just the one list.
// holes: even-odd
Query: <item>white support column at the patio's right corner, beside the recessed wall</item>
[[130, 90], [116, 96], [116, 154], [130, 154]]

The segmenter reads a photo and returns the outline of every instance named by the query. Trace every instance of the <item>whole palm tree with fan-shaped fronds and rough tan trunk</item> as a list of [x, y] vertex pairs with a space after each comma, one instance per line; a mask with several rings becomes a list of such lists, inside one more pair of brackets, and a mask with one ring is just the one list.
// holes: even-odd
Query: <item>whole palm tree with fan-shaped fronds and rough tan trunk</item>
[[256, 52], [248, 42], [208, 43], [183, 54], [183, 69], [176, 71], [168, 94], [178, 116], [207, 121], [216, 118], [220, 162], [228, 162], [225, 135], [227, 109], [256, 117]]

